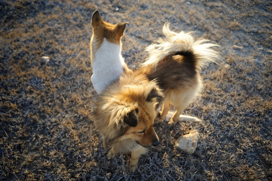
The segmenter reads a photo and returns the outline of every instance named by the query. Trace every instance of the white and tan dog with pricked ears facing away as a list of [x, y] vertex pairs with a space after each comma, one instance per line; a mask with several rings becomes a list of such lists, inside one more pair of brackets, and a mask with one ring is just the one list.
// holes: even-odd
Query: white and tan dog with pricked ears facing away
[[127, 23], [112, 25], [104, 22], [98, 11], [92, 16], [93, 36], [90, 52], [93, 75], [90, 78], [100, 95], [123, 72], [131, 71], [121, 55], [121, 38]]

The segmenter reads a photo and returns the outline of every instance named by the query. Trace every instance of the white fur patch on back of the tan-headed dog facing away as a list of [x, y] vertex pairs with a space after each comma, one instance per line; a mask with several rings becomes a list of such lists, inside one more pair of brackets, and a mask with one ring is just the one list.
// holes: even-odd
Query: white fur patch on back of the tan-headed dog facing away
[[95, 60], [92, 62], [93, 75], [90, 78], [98, 94], [101, 94], [109, 84], [119, 78], [125, 65], [121, 55], [121, 46], [110, 43], [104, 38], [101, 47], [93, 52]]

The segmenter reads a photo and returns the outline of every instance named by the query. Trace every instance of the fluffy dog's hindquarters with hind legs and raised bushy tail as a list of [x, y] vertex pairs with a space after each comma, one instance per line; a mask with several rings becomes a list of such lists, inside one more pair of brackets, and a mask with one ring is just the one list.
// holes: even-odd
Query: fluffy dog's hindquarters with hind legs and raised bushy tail
[[165, 39], [147, 47], [149, 58], [138, 70], [149, 80], [157, 79], [164, 92], [163, 107], [159, 119], [165, 120], [172, 104], [176, 109], [168, 124], [178, 120], [200, 121], [198, 118], [183, 116], [183, 110], [201, 91], [202, 81], [199, 71], [208, 62], [221, 59], [213, 50], [218, 45], [205, 39], [194, 40], [191, 33], [175, 33], [169, 24], [163, 27]]

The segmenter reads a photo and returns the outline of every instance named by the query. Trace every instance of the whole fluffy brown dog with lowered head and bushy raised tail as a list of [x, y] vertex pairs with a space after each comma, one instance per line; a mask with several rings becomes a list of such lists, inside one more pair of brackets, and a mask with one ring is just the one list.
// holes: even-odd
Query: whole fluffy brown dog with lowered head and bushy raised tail
[[[97, 102], [95, 125], [103, 136], [107, 157], [131, 152], [129, 169], [138, 167], [141, 154], [159, 144], [153, 129], [158, 105], [163, 102], [160, 119], [164, 120], [170, 105], [176, 112], [169, 124], [176, 123], [185, 107], [202, 87], [202, 66], [220, 58], [207, 40], [194, 41], [191, 34], [175, 33], [165, 24], [166, 39], [147, 48], [149, 59], [134, 72], [126, 72], [101, 94]], [[164, 96], [162, 94], [164, 92]], [[182, 116], [198, 121], [198, 118]]]

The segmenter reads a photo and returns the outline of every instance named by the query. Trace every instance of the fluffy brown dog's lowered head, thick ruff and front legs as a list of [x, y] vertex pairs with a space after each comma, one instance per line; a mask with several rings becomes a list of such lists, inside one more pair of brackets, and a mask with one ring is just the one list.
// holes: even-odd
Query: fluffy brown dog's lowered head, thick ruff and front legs
[[111, 84], [97, 102], [95, 125], [110, 147], [107, 157], [131, 152], [129, 170], [138, 168], [138, 160], [159, 139], [153, 124], [163, 95], [155, 80], [139, 72], [128, 72]]

